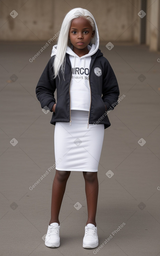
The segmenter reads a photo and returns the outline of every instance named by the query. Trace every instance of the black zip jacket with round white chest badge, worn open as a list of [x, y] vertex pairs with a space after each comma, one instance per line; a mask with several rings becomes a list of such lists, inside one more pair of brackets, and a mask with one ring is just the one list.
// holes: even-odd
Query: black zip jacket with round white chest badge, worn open
[[[58, 76], [53, 79], [54, 58], [55, 56], [49, 59], [39, 78], [36, 86], [36, 96], [42, 108], [53, 112], [52, 107], [56, 103], [54, 92], [57, 90], [57, 103], [50, 123], [55, 125], [56, 122], [70, 122], [71, 125], [70, 82], [72, 74], [69, 54], [66, 53], [64, 78], [60, 71], [60, 79]], [[86, 126], [89, 127], [89, 124], [104, 124], [106, 129], [111, 125], [106, 110], [114, 109], [120, 92], [114, 71], [99, 49], [91, 56], [89, 82], [91, 103], [88, 124]]]

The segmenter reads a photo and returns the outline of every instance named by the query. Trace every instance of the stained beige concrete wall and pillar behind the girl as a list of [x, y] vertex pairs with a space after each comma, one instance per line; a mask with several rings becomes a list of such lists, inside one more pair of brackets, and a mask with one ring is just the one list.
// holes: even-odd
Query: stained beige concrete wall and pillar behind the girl
[[[88, 9], [96, 19], [100, 40], [140, 43], [140, 0], [3, 0], [0, 40], [47, 40], [61, 27], [72, 8]], [[146, 43], [157, 50], [160, 0], [147, 0]], [[18, 16], [10, 15], [16, 10]], [[155, 28], [154, 28], [155, 27]], [[151, 38], [152, 36], [152, 38]]]

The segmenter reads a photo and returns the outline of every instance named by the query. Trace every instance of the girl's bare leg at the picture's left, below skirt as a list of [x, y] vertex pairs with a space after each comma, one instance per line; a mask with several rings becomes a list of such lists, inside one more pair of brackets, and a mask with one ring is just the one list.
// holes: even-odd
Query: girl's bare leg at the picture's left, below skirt
[[70, 171], [56, 170], [52, 186], [51, 220], [49, 225], [53, 222], [57, 222], [60, 225], [59, 212], [69, 175]]

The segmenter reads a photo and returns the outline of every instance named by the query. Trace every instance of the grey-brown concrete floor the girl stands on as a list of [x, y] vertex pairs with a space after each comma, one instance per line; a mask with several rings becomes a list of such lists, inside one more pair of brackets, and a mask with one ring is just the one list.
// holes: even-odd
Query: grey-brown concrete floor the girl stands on
[[[160, 255], [160, 53], [132, 44], [114, 44], [111, 51], [100, 46], [123, 99], [108, 115], [99, 162], [99, 247], [82, 247], [87, 206], [81, 172], [67, 182], [60, 247], [45, 246], [55, 169], [29, 189], [55, 162], [52, 113], [41, 111], [35, 94], [52, 45], [29, 61], [45, 43], [0, 43], [0, 255]], [[108, 178], [108, 171], [114, 175]]]

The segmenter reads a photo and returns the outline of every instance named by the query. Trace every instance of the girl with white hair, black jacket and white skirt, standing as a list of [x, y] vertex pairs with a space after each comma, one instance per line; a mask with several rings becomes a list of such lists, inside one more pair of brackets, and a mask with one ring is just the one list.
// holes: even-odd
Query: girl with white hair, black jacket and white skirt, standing
[[88, 219], [83, 247], [98, 246], [98, 164], [104, 129], [111, 125], [107, 110], [114, 109], [119, 97], [114, 71], [98, 47], [98, 29], [92, 14], [82, 8], [70, 10], [36, 87], [41, 107], [53, 112], [51, 124], [55, 125], [56, 172], [45, 239], [48, 247], [60, 246], [59, 212], [71, 171], [83, 172], [85, 180]]

